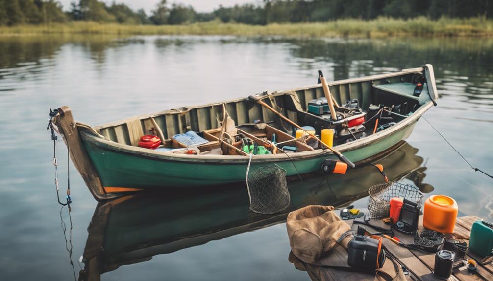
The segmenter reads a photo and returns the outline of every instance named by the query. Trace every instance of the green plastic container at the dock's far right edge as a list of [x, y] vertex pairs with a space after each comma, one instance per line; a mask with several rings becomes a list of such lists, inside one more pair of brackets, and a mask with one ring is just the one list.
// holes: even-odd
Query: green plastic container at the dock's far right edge
[[483, 257], [492, 254], [493, 224], [477, 221], [472, 225], [469, 249]]

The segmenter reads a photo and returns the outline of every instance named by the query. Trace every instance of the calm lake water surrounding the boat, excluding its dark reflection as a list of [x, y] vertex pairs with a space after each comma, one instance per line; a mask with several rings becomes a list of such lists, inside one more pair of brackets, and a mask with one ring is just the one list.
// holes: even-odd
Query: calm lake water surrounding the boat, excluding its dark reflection
[[[313, 84], [318, 69], [324, 70], [332, 80], [416, 67], [426, 62], [434, 66], [441, 96], [438, 106], [426, 112], [426, 119], [474, 166], [491, 173], [492, 56], [492, 38], [1, 37], [0, 115], [6, 120], [0, 125], [0, 155], [5, 160], [0, 161], [0, 203], [3, 206], [0, 225], [5, 226], [0, 231], [0, 248], [4, 253], [0, 256], [2, 278], [73, 278], [60, 231], [59, 207], [53, 204], [53, 144], [44, 131], [50, 106], [70, 105], [78, 121], [97, 125], [145, 112], [245, 97], [266, 89]], [[454, 197], [459, 215], [493, 218], [491, 179], [464, 164], [424, 121], [417, 123], [407, 141], [419, 148], [427, 164], [404, 181], [420, 183], [426, 173], [426, 182], [434, 187], [432, 194]], [[57, 149], [58, 155], [66, 153], [63, 145], [57, 145]], [[60, 173], [65, 174], [63, 169], [68, 165], [64, 159], [59, 160]], [[73, 166], [71, 169], [73, 256], [78, 257], [84, 249], [86, 226], [97, 203]], [[387, 172], [388, 169], [390, 167]], [[371, 175], [376, 176], [375, 181], [380, 180], [373, 172]], [[295, 197], [298, 201], [293, 202], [293, 206], [317, 203], [317, 200], [338, 204], [337, 196], [341, 196], [339, 199], [343, 202], [344, 192], [352, 196], [357, 193], [354, 190], [358, 190], [361, 179], [347, 183], [354, 186], [348, 191], [338, 190], [339, 193], [332, 195], [327, 186], [335, 184], [336, 180], [315, 178], [307, 180], [306, 185], [300, 184], [299, 189], [305, 196]], [[422, 189], [429, 191], [432, 187], [423, 184]], [[244, 188], [240, 190], [245, 192]], [[363, 196], [364, 191], [360, 192]], [[239, 212], [247, 212], [245, 195], [238, 196], [245, 200]], [[166, 196], [160, 198], [168, 202], [163, 199]], [[353, 204], [363, 207], [366, 198]], [[138, 206], [137, 203], [129, 205]], [[124, 215], [128, 213], [132, 212], [126, 211]], [[70, 234], [69, 218], [63, 215], [67, 234]], [[190, 216], [197, 215], [191, 213]], [[244, 222], [253, 220], [242, 216]], [[113, 221], [113, 217], [109, 220]], [[133, 225], [129, 229], [138, 231], [137, 220], [129, 220], [128, 224]], [[156, 220], [165, 219], [157, 217]], [[179, 221], [180, 227], [183, 221]], [[161, 237], [166, 236], [163, 231], [159, 234]], [[240, 254], [231, 253], [231, 249], [237, 249]], [[152, 261], [108, 272], [105, 280], [139, 280], [143, 274], [148, 280], [162, 280], [163, 271], [173, 280], [306, 278], [305, 274], [297, 275], [298, 272], [285, 262], [288, 249], [287, 234], [281, 223], [157, 255]], [[30, 270], [26, 270], [27, 264]], [[187, 270], [188, 264], [195, 266], [193, 271]], [[77, 272], [78, 266], [75, 268]]]

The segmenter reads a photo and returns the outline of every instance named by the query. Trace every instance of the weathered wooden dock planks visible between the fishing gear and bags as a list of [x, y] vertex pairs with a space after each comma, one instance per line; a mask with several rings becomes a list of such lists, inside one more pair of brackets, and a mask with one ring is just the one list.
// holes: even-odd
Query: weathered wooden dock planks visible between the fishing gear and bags
[[[469, 242], [469, 236], [472, 224], [480, 220], [480, 218], [475, 216], [461, 217], [456, 221], [456, 227], [454, 230], [455, 237], [457, 240], [463, 240]], [[352, 221], [346, 221], [352, 224]], [[419, 232], [421, 233], [423, 228], [423, 216], [420, 218]], [[386, 226], [382, 221], [372, 221], [372, 225], [378, 225], [382, 227]], [[362, 225], [364, 226], [364, 225]], [[369, 226], [364, 226], [368, 231], [377, 232]], [[357, 225], [352, 225], [352, 229], [355, 230]], [[450, 235], [450, 234], [449, 234]], [[413, 236], [409, 234], [404, 234], [399, 231], [395, 231], [395, 236], [398, 237], [405, 244], [413, 243]], [[384, 245], [387, 247], [388, 252], [397, 257], [398, 262], [403, 265], [409, 273], [406, 274], [407, 280], [411, 281], [439, 281], [441, 279], [436, 278], [433, 275], [433, 267], [435, 262], [434, 253], [424, 253], [418, 250], [410, 250], [392, 243], [388, 239], [384, 239]], [[478, 274], [470, 273], [467, 269], [459, 271], [458, 269], [453, 271], [453, 276], [449, 278], [450, 281], [493, 281], [493, 265], [487, 264], [485, 266], [480, 266], [482, 260], [481, 257], [477, 256], [470, 251], [467, 252], [467, 259], [473, 259], [478, 263]], [[374, 274], [359, 273], [342, 271], [335, 269], [323, 268], [316, 265], [306, 265], [298, 263], [298, 259], [293, 255], [289, 254], [289, 260], [293, 262], [298, 269], [303, 270], [303, 266], [307, 271], [308, 275], [313, 281], [365, 281], [365, 280], [378, 280]], [[334, 265], [334, 266], [348, 266], [348, 253], [343, 247], [335, 247], [326, 256], [322, 257], [317, 261], [318, 264]], [[302, 265], [302, 268], [300, 268]], [[387, 258], [383, 270], [385, 270], [391, 276], [395, 276], [395, 269], [392, 262]], [[405, 272], [406, 273], [406, 272]]]

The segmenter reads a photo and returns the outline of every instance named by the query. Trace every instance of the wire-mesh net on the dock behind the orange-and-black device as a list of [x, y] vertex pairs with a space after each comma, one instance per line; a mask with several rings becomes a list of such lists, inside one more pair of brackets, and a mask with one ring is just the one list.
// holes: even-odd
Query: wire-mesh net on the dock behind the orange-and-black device
[[368, 190], [368, 211], [370, 220], [381, 220], [390, 217], [390, 199], [405, 198], [422, 204], [423, 193], [414, 185], [399, 182], [386, 182], [374, 185]]

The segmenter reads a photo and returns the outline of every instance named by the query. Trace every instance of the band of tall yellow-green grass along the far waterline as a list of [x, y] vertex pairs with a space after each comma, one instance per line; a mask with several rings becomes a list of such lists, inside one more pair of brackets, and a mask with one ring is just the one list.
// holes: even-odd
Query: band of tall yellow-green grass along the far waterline
[[70, 22], [39, 26], [0, 27], [0, 36], [39, 34], [108, 35], [236, 35], [286, 37], [387, 37], [387, 36], [493, 36], [493, 20], [418, 17], [408, 20], [380, 17], [364, 21], [344, 19], [324, 23], [250, 26], [218, 21], [180, 26], [143, 26]]

